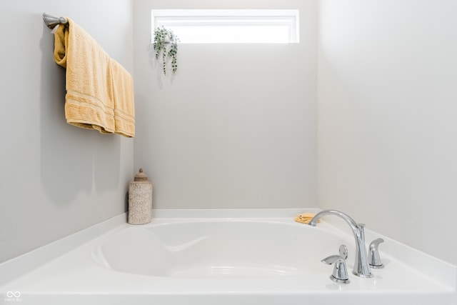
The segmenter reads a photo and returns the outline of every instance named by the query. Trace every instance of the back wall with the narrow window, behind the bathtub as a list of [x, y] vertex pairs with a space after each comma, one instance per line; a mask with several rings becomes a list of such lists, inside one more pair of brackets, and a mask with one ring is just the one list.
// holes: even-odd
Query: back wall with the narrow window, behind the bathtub
[[[300, 44], [181, 44], [151, 67], [151, 9], [300, 9]], [[316, 1], [137, 0], [135, 167], [156, 208], [316, 206]]]

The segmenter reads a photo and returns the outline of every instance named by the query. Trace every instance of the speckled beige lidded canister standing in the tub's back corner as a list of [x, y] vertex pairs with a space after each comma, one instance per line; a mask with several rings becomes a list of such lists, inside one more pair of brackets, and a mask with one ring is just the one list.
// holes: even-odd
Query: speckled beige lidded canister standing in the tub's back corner
[[149, 224], [152, 220], [152, 183], [140, 169], [129, 183], [129, 224]]

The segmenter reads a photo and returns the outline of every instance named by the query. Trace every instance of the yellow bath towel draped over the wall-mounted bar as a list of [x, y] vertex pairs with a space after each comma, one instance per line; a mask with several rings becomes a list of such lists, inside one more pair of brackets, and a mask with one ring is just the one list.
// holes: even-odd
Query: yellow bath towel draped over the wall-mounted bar
[[81, 27], [67, 20], [69, 23], [59, 26], [54, 34], [54, 59], [66, 68], [67, 123], [102, 134], [134, 136], [130, 74]]

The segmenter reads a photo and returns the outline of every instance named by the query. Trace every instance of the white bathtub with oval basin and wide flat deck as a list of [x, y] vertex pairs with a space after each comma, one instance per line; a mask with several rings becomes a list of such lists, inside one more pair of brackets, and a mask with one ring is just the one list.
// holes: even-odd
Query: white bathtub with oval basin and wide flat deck
[[[159, 217], [142, 226], [116, 224], [104, 234], [95, 230], [99, 236], [1, 286], [0, 303], [16, 301], [8, 298], [9, 291], [20, 292], [21, 304], [49, 305], [456, 305], [455, 267], [396, 241], [383, 237], [385, 269], [361, 279], [351, 274], [353, 237], [329, 224], [331, 217], [311, 227], [294, 222], [287, 210], [283, 214], [290, 215], [281, 218], [259, 217], [261, 211], [256, 217], [240, 213]], [[369, 230], [366, 236], [367, 244], [378, 237]], [[350, 284], [331, 281], [333, 266], [321, 263], [338, 254], [341, 244], [349, 251]], [[415, 268], [403, 258], [426, 266]]]

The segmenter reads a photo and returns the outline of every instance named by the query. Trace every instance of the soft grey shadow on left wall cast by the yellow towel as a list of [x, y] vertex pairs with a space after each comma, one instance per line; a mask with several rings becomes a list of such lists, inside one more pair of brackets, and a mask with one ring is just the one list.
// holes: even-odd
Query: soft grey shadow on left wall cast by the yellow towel
[[[41, 183], [54, 204], [119, 187], [121, 139], [66, 123], [65, 69], [54, 62], [54, 35], [41, 37]], [[95, 190], [93, 187], [95, 186]]]

